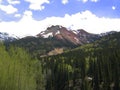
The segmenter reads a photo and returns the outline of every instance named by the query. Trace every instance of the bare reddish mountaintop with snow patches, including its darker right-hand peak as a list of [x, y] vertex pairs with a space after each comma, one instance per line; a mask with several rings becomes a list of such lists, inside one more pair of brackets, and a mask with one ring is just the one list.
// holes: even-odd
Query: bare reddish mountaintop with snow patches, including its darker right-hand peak
[[90, 43], [100, 38], [98, 34], [91, 34], [83, 29], [68, 30], [67, 28], [59, 25], [48, 27], [37, 36], [43, 38], [55, 37], [59, 40], [69, 41], [75, 45]]

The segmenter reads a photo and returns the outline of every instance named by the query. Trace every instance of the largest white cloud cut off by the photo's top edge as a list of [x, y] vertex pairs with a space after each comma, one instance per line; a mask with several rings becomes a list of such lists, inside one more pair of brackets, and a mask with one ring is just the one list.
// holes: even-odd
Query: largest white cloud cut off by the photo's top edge
[[49, 4], [49, 0], [25, 0], [30, 3], [29, 8], [32, 10], [43, 10], [45, 6], [43, 4]]

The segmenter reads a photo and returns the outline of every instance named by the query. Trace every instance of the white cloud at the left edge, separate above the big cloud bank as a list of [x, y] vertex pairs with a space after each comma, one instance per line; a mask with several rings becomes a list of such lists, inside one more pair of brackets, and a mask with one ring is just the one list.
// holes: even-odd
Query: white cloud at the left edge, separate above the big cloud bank
[[7, 14], [13, 14], [18, 11], [17, 8], [14, 8], [12, 5], [0, 5], [0, 9]]

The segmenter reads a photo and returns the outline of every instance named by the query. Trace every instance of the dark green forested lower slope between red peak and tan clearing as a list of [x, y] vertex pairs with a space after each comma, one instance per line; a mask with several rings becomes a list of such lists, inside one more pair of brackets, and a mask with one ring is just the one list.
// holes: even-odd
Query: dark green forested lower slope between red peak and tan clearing
[[33, 56], [40, 57], [41, 55], [47, 55], [48, 52], [54, 50], [55, 48], [70, 49], [75, 48], [71, 42], [65, 40], [58, 40], [54, 37], [42, 38], [42, 37], [25, 37], [20, 40], [13, 41], [11, 43], [6, 43], [6, 45], [13, 45], [26, 49]]

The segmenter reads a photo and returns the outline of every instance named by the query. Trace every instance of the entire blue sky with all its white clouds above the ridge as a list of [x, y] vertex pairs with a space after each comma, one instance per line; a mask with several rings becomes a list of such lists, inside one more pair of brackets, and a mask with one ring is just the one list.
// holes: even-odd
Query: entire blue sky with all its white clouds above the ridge
[[120, 31], [120, 0], [0, 0], [0, 32], [36, 35], [51, 25]]

